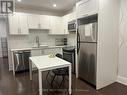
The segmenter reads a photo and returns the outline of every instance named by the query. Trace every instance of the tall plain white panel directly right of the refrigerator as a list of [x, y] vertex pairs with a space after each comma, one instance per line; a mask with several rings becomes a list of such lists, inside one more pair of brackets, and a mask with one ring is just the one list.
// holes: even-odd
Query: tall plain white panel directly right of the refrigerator
[[99, 0], [97, 89], [117, 80], [119, 0]]

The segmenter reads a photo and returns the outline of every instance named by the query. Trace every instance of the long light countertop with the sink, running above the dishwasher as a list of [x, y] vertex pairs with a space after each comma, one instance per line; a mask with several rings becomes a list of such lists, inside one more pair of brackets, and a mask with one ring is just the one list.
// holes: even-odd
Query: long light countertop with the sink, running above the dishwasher
[[63, 48], [63, 47], [75, 47], [71, 45], [62, 45], [62, 46], [46, 46], [46, 47], [30, 47], [30, 48], [16, 48], [16, 49], [11, 49], [11, 52], [14, 51], [24, 51], [24, 50], [43, 50], [43, 49], [52, 49], [52, 48]]

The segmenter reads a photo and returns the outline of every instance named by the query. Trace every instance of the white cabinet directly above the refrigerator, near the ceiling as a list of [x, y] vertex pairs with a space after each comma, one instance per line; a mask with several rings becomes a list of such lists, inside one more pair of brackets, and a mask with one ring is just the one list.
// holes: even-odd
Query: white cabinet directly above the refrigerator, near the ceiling
[[98, 0], [81, 0], [76, 4], [77, 18], [98, 13]]

